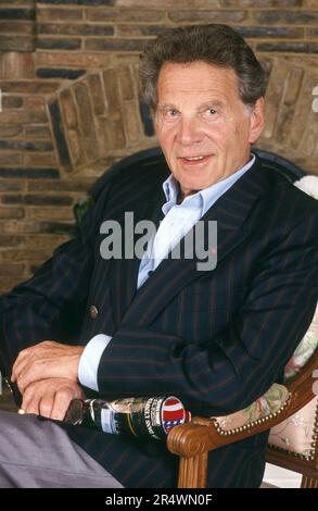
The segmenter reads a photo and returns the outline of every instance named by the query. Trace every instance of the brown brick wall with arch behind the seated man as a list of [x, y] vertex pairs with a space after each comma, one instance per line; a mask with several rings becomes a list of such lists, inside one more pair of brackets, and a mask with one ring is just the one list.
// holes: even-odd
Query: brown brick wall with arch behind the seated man
[[156, 145], [138, 59], [167, 26], [234, 26], [268, 71], [258, 147], [318, 173], [318, 0], [1, 0], [0, 291], [68, 239], [104, 169]]

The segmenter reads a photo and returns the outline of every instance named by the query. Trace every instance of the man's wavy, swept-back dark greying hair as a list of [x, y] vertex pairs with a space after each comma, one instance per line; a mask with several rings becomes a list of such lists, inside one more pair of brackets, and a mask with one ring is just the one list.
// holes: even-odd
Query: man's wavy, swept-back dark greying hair
[[167, 30], [151, 41], [141, 55], [142, 95], [151, 110], [157, 107], [157, 80], [163, 65], [195, 61], [231, 67], [246, 105], [253, 107], [265, 96], [265, 71], [242, 36], [227, 25], [190, 25]]

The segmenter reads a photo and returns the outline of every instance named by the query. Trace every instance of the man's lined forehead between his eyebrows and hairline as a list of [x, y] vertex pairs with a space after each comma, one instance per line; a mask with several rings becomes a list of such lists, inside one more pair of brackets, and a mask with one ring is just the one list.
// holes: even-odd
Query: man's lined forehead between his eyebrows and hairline
[[157, 83], [158, 100], [173, 100], [183, 95], [201, 99], [239, 98], [239, 82], [231, 67], [206, 62], [165, 63]]

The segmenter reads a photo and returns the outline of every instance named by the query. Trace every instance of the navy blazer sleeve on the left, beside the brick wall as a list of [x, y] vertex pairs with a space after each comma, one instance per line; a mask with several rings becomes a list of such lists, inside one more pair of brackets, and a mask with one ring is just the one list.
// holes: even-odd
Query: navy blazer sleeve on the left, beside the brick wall
[[76, 341], [112, 176], [76, 226], [74, 238], [58, 247], [30, 279], [0, 297], [0, 369], [5, 375], [11, 374], [18, 352], [28, 346], [46, 339]]

